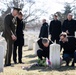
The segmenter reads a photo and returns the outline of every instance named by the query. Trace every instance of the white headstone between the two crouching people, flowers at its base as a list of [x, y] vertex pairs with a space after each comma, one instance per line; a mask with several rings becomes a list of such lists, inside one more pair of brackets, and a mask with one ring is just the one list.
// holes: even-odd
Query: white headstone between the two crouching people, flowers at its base
[[50, 45], [50, 61], [51, 66], [53, 68], [59, 68], [60, 67], [60, 45], [59, 44], [51, 44]]

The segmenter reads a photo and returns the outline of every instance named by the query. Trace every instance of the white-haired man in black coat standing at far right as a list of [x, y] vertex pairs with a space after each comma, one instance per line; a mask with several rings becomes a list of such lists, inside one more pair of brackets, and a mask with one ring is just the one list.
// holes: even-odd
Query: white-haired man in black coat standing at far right
[[72, 17], [73, 15], [69, 13], [62, 25], [62, 31], [66, 32], [68, 36], [74, 36], [76, 31], [76, 21]]

